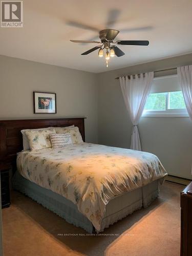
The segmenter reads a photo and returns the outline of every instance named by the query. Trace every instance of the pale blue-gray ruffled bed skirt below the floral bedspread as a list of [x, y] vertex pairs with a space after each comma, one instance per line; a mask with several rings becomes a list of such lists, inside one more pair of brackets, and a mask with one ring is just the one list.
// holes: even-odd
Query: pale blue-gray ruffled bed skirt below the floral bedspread
[[159, 195], [159, 181], [126, 192], [113, 198], [107, 205], [102, 218], [101, 229], [95, 230], [91, 221], [83, 216], [70, 200], [53, 191], [25, 179], [18, 172], [13, 177], [13, 188], [35, 200], [37, 203], [55, 212], [67, 222], [85, 229], [89, 233], [101, 232], [104, 228], [132, 214], [141, 207], [147, 207]]

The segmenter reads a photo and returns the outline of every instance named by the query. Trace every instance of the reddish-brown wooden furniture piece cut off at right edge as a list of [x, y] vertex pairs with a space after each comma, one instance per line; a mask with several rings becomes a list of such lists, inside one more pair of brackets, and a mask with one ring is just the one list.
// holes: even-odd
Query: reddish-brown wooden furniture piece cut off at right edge
[[192, 182], [181, 192], [181, 256], [192, 255]]

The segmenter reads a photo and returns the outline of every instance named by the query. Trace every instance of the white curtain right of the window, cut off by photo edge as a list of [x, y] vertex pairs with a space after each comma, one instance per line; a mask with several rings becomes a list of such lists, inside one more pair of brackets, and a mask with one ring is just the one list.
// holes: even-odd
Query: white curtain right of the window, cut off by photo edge
[[187, 112], [192, 120], [192, 65], [177, 68]]

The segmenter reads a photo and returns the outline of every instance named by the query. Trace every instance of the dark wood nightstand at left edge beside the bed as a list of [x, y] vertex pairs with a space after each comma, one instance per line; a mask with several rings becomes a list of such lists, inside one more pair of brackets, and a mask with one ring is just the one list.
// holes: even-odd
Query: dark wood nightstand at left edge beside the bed
[[10, 164], [0, 164], [2, 208], [10, 206], [9, 170]]

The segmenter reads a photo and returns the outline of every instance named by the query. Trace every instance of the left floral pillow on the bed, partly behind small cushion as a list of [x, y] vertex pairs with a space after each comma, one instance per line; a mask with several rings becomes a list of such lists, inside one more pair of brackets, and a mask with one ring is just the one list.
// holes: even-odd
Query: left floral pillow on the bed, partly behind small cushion
[[26, 131], [31, 151], [42, 150], [51, 147], [50, 134], [56, 133], [55, 129]]

